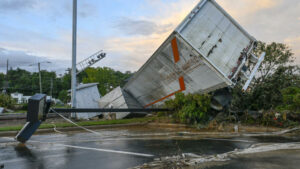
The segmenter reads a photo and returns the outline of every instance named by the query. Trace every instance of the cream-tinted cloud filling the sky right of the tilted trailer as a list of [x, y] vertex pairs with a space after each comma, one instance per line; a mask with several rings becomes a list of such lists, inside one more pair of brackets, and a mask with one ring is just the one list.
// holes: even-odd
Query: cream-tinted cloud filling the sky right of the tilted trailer
[[300, 64], [299, 0], [218, 0], [256, 39], [287, 43]]

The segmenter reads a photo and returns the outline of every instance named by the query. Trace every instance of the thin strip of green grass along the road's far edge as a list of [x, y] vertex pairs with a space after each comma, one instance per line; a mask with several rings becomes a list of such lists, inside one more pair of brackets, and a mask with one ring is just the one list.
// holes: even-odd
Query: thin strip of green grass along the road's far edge
[[[113, 124], [130, 124], [130, 123], [143, 123], [148, 121], [153, 121], [154, 117], [146, 117], [146, 118], [134, 118], [134, 119], [120, 119], [120, 120], [105, 120], [105, 121], [79, 121], [77, 122], [80, 126], [97, 126], [97, 125], [113, 125]], [[58, 128], [64, 127], [75, 127], [75, 125], [71, 123], [53, 123]], [[40, 129], [47, 129], [53, 128], [53, 124], [51, 123], [43, 123], [39, 128]], [[1, 131], [19, 131], [22, 129], [23, 126], [7, 126], [7, 127], [0, 127]]]

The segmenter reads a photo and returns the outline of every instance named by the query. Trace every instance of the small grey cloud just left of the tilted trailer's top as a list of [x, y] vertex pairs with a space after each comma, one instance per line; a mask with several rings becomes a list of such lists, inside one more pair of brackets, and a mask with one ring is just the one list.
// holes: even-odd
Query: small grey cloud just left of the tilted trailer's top
[[165, 33], [169, 31], [171, 24], [158, 25], [152, 21], [134, 20], [122, 18], [116, 24], [115, 28], [128, 35], [151, 35], [154, 33]]

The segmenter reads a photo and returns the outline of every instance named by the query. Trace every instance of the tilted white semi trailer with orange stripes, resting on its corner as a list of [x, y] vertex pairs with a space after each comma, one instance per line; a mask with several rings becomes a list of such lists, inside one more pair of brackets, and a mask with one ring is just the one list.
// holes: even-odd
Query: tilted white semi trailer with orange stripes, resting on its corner
[[[251, 53], [255, 46], [255, 38], [214, 0], [202, 0], [122, 90], [150, 107], [178, 92], [209, 93], [240, 79], [247, 89], [264, 58]], [[114, 105], [116, 98], [109, 100]]]

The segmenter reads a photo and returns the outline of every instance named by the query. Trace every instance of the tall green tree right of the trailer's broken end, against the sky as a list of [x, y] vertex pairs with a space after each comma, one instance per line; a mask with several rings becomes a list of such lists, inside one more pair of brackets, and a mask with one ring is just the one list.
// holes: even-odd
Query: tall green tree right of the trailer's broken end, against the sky
[[243, 92], [241, 86], [233, 89], [232, 109], [269, 110], [283, 102], [281, 90], [299, 85], [299, 67], [293, 66], [294, 57], [285, 44], [263, 42], [254, 50], [256, 55], [266, 52], [265, 60], [259, 68], [250, 90]]

